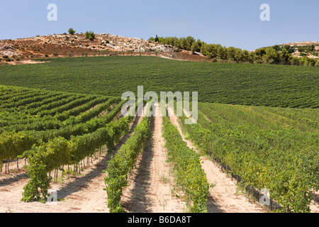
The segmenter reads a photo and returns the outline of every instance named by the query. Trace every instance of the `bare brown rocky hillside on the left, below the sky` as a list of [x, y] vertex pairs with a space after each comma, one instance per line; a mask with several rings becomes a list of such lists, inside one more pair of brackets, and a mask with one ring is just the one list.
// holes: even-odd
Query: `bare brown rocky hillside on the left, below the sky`
[[175, 52], [177, 48], [140, 38], [96, 34], [88, 40], [83, 33], [74, 35], [44, 35], [16, 40], [0, 40], [0, 65], [21, 65], [39, 58], [83, 57], [96, 55], [157, 55], [176, 60], [208, 60], [190, 51]]

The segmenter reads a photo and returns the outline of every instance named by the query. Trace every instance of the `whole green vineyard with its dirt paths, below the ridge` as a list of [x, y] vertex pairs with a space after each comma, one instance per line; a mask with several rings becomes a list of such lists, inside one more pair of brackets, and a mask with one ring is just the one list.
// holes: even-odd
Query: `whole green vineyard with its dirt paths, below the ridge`
[[[315, 67], [138, 56], [1, 67], [0, 211], [318, 212], [316, 83]], [[198, 122], [152, 101], [122, 116], [138, 85], [198, 91]], [[269, 206], [247, 199], [262, 189]]]

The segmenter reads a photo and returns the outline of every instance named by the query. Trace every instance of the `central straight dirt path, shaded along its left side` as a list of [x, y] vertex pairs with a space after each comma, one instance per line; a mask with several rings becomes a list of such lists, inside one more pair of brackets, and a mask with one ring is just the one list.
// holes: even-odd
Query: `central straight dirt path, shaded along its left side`
[[[159, 113], [159, 105], [156, 106]], [[172, 195], [174, 177], [162, 137], [162, 117], [152, 117], [152, 138], [138, 158], [137, 169], [123, 190], [122, 204], [134, 213], [183, 213], [185, 202]]]

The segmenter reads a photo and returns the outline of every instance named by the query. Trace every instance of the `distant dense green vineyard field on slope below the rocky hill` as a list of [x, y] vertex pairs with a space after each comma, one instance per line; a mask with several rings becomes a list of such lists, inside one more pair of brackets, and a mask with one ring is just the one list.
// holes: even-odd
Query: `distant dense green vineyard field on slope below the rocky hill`
[[187, 62], [147, 56], [73, 57], [4, 66], [0, 84], [59, 92], [198, 92], [198, 101], [318, 108], [318, 67]]

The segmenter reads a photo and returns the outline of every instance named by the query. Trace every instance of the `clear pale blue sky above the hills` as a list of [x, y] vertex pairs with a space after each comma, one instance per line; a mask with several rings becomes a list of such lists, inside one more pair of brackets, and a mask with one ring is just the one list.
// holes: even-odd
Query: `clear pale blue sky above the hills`
[[[47, 21], [48, 4], [57, 21]], [[269, 4], [270, 21], [261, 21]], [[1, 0], [0, 39], [65, 33], [111, 33], [200, 38], [246, 50], [295, 41], [319, 41], [318, 0]]]

